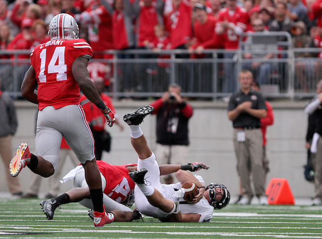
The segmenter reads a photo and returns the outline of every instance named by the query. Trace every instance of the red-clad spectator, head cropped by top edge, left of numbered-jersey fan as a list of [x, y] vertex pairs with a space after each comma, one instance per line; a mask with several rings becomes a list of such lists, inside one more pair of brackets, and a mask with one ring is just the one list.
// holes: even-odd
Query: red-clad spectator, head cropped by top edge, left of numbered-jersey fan
[[143, 4], [140, 0], [135, 0], [133, 4], [134, 14], [136, 16], [136, 35], [137, 46], [139, 48], [145, 48], [144, 42], [154, 41], [154, 27], [158, 24], [163, 24], [163, 0], [143, 0]]

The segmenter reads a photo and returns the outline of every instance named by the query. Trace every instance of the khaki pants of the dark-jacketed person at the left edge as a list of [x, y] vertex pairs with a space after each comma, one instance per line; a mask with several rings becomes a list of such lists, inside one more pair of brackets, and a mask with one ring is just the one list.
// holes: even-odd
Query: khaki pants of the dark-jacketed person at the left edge
[[19, 179], [17, 177], [12, 177], [9, 172], [9, 164], [11, 158], [13, 157], [11, 139], [11, 135], [0, 137], [0, 156], [4, 165], [3, 167], [5, 169], [4, 171], [9, 191], [11, 192], [11, 194], [13, 194], [21, 192], [21, 187], [19, 184]]

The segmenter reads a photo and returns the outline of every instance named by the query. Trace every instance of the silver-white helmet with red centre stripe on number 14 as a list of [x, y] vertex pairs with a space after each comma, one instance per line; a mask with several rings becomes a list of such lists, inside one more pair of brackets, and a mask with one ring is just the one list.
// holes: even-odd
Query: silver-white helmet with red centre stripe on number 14
[[54, 16], [49, 24], [48, 35], [51, 40], [78, 39], [78, 25], [71, 15], [60, 13]]

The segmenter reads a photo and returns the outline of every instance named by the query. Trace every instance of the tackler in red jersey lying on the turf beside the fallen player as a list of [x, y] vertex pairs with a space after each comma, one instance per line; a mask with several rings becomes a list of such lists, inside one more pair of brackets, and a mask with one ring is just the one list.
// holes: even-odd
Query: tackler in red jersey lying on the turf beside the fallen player
[[[137, 165], [111, 165], [104, 161], [97, 161], [97, 165], [101, 172], [102, 188], [104, 189], [103, 203], [106, 210], [114, 214], [114, 221], [130, 222], [139, 219], [140, 214], [137, 211], [132, 212], [129, 208], [134, 202], [133, 190], [135, 186], [135, 183], [129, 176], [129, 172], [137, 170]], [[183, 167], [185, 170], [196, 171], [207, 166], [201, 163], [193, 163], [184, 165]], [[181, 165], [163, 165], [160, 166], [160, 174], [165, 175], [174, 173], [181, 168]], [[71, 179], [74, 180], [75, 188], [55, 198], [43, 200], [41, 202], [43, 211], [48, 220], [53, 219], [54, 211], [58, 206], [70, 202], [79, 202], [81, 205], [90, 208], [88, 214], [92, 217], [91, 212], [93, 203], [91, 202], [91, 199], [88, 199], [90, 191], [85, 180], [85, 172], [82, 166], [77, 166], [69, 171], [61, 182], [65, 183]], [[51, 207], [47, 205], [51, 205]]]

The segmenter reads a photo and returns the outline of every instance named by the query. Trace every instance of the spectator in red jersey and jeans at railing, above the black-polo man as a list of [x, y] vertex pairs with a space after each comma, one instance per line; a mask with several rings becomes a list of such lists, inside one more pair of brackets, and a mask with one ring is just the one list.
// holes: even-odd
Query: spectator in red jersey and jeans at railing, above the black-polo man
[[[244, 8], [237, 6], [236, 0], [227, 0], [227, 7], [219, 12], [215, 32], [222, 37], [224, 48], [238, 49], [239, 36], [246, 31], [249, 16]], [[235, 53], [224, 53], [224, 58], [232, 59]], [[237, 69], [234, 62], [227, 62], [223, 66], [224, 81], [222, 92], [233, 93], [237, 86]]]

